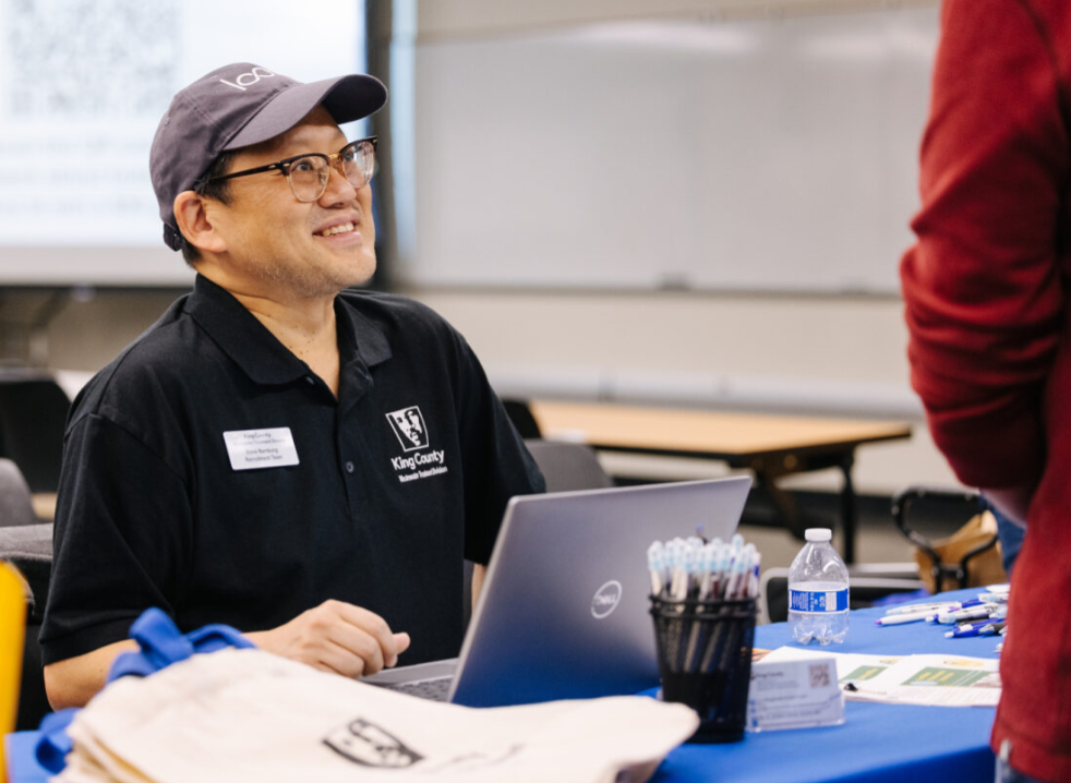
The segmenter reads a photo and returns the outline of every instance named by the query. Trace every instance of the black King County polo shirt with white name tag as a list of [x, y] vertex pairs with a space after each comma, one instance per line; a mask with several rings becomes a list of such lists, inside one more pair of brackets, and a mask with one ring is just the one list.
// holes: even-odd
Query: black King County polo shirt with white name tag
[[456, 655], [462, 558], [543, 480], [465, 339], [428, 308], [345, 292], [336, 399], [198, 277], [75, 400], [56, 514], [46, 663], [127, 638], [264, 630], [327, 599]]

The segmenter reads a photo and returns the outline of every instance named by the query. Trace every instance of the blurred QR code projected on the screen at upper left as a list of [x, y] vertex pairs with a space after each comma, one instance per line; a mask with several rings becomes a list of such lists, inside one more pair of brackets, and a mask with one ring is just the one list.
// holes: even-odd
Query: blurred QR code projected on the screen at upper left
[[175, 93], [178, 0], [0, 0], [3, 109], [159, 117]]

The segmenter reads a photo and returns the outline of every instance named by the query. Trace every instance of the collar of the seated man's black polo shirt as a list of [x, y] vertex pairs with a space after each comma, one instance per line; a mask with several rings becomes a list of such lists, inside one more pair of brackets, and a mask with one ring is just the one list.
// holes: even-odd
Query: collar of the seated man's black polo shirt
[[[253, 382], [281, 385], [310, 374], [309, 365], [241, 302], [202, 275], [194, 281], [186, 311]], [[357, 362], [374, 366], [390, 358], [390, 344], [383, 332], [340, 297], [335, 299], [335, 317], [342, 365]]]

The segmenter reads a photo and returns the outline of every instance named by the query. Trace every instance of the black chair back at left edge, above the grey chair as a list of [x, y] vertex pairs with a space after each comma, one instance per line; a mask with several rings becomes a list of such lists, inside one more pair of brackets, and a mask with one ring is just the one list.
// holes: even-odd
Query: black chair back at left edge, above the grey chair
[[0, 457], [13, 460], [32, 492], [56, 492], [71, 400], [51, 377], [0, 375]]

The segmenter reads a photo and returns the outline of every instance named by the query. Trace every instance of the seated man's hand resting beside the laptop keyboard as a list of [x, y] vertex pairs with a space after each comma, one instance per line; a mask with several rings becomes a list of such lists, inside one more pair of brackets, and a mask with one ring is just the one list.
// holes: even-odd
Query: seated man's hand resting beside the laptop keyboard
[[394, 634], [377, 614], [325, 601], [272, 630], [246, 634], [262, 650], [346, 677], [375, 674], [398, 663], [408, 634]]

